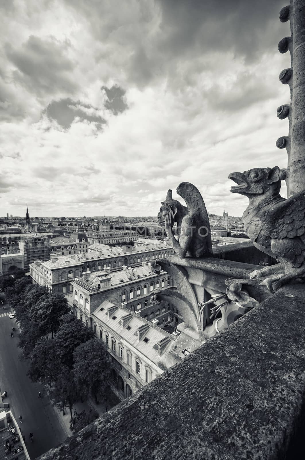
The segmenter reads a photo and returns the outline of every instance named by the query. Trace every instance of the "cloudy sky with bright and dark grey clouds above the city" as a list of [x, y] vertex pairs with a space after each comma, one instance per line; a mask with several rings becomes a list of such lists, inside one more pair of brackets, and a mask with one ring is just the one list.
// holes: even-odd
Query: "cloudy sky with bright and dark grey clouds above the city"
[[242, 215], [228, 174], [287, 166], [286, 3], [1, 0], [0, 215], [156, 215], [182, 181]]

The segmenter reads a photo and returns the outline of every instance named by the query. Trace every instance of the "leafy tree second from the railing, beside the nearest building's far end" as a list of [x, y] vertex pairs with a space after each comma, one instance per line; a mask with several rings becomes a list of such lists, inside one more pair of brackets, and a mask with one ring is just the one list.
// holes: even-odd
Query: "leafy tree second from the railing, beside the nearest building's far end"
[[73, 368], [73, 351], [80, 344], [93, 339], [93, 332], [71, 314], [63, 315], [60, 327], [54, 338], [56, 353], [62, 366]]

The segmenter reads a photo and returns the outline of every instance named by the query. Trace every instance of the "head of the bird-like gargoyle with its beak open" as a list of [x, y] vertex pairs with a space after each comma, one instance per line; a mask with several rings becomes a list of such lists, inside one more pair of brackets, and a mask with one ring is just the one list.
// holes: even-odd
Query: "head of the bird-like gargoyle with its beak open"
[[232, 193], [241, 195], [262, 195], [271, 192], [272, 195], [279, 193], [281, 180], [285, 173], [278, 166], [274, 168], [253, 168], [243, 173], [231, 173], [229, 179], [237, 185], [232, 185]]

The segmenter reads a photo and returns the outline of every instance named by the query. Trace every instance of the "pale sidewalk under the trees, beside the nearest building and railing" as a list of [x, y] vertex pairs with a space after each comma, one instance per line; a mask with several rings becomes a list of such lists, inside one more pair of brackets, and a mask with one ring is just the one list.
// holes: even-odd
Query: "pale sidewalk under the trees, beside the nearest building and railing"
[[[74, 409], [76, 409], [77, 413], [79, 414], [84, 409], [85, 409], [85, 412], [89, 412], [89, 409], [91, 407], [92, 410], [96, 410], [96, 412], [98, 413], [100, 417], [102, 414], [105, 414], [107, 412], [106, 407], [107, 407], [107, 410], [109, 410], [113, 406], [116, 406], [119, 403], [120, 403], [119, 399], [117, 399], [117, 397], [114, 394], [111, 394], [108, 396], [107, 402], [101, 401], [99, 404], [96, 404], [93, 401], [84, 401], [84, 403], [81, 403], [79, 401], [78, 403], [75, 403], [73, 405], [72, 415], [74, 414]], [[65, 408], [65, 415], [62, 415], [62, 410], [59, 410], [57, 407], [54, 407], [54, 411], [56, 413], [56, 416], [58, 418], [60, 425], [62, 426], [62, 429], [67, 434], [67, 437], [72, 436], [73, 432], [70, 431], [70, 411], [69, 409]]]

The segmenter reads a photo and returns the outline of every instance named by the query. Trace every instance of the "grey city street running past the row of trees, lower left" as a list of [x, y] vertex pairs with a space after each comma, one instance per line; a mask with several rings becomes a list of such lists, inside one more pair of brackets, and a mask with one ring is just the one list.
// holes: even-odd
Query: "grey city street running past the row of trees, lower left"
[[[67, 431], [59, 421], [58, 416], [43, 388], [32, 383], [28, 377], [27, 362], [20, 361], [21, 354], [18, 345], [18, 328], [15, 319], [10, 319], [11, 308], [6, 303], [6, 310], [0, 305], [0, 390], [7, 391], [5, 403], [16, 420], [22, 415], [23, 423], [19, 423], [22, 434], [26, 437], [28, 453], [32, 460], [40, 454], [62, 443], [67, 438]], [[11, 338], [11, 328], [16, 327]], [[42, 398], [38, 398], [41, 391]], [[33, 443], [29, 434], [33, 432]]]

